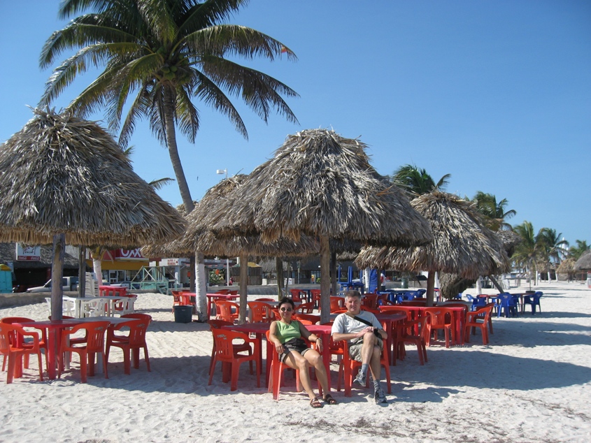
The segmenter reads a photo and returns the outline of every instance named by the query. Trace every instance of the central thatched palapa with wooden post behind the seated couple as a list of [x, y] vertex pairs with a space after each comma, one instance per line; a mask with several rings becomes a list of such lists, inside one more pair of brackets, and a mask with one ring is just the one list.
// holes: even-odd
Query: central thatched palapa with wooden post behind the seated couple
[[404, 192], [371, 167], [365, 147], [326, 129], [288, 136], [205, 220], [218, 237], [318, 238], [322, 321], [329, 315], [330, 239], [378, 245], [432, 239]]

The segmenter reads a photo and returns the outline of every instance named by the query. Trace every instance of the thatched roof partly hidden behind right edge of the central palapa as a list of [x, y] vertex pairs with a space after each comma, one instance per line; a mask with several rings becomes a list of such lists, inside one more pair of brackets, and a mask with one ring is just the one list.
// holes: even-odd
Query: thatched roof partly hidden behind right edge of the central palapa
[[431, 224], [434, 240], [420, 247], [371, 247], [357, 256], [357, 266], [409, 271], [441, 271], [476, 278], [508, 270], [503, 243], [473, 203], [453, 194], [434, 191], [411, 204]]

